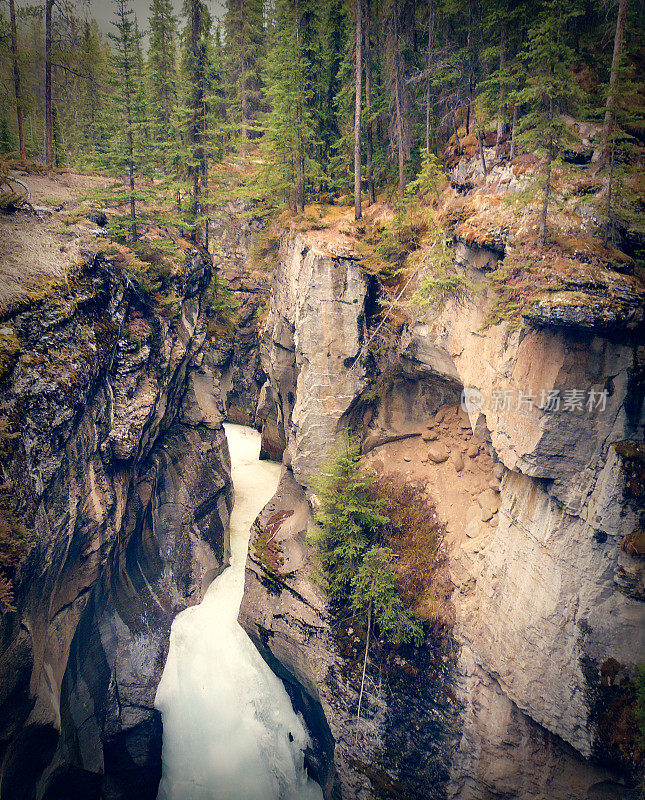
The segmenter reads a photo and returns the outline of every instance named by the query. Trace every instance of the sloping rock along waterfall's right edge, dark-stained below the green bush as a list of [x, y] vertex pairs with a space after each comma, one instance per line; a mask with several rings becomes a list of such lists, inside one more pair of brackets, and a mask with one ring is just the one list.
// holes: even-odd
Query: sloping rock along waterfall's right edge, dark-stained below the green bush
[[[305, 492], [286, 470], [252, 531], [240, 611], [240, 622], [307, 723], [307, 768], [325, 797], [336, 800], [383, 794], [439, 800], [457, 726], [451, 643], [379, 652], [380, 670], [368, 673], [357, 721], [365, 621], [339, 626], [330, 618], [324, 592], [311, 580], [315, 565], [306, 532], [312, 524]], [[278, 568], [262, 555], [268, 528], [283, 559]], [[377, 650], [373, 643], [373, 656]]]

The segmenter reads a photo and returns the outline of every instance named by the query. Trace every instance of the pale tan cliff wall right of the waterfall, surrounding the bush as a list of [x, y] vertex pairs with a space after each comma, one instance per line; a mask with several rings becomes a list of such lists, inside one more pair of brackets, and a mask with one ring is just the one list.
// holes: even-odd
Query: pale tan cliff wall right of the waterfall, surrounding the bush
[[[273, 524], [284, 564], [251, 548], [241, 621], [315, 733], [326, 795], [637, 797], [636, 731], [614, 720], [645, 656], [642, 287], [621, 283], [609, 322], [553, 296], [529, 325], [484, 331], [499, 253], [462, 242], [479, 290], [404, 329], [379, 382], [356, 256], [315, 237], [283, 241], [263, 342], [265, 447], [288, 467], [271, 512], [296, 513], [260, 518], [256, 542]], [[426, 485], [454, 585], [452, 640], [376, 670], [360, 724], [355, 631], [348, 647], [333, 629], [305, 541], [312, 476], [345, 425], [379, 471]]]

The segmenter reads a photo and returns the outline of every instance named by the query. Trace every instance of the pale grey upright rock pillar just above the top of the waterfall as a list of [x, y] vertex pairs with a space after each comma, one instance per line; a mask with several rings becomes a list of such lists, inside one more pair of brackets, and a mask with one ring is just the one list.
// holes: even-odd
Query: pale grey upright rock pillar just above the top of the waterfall
[[263, 449], [286, 448], [304, 486], [366, 384], [366, 286], [352, 253], [334, 253], [315, 236], [285, 234], [263, 334], [268, 383], [259, 413]]

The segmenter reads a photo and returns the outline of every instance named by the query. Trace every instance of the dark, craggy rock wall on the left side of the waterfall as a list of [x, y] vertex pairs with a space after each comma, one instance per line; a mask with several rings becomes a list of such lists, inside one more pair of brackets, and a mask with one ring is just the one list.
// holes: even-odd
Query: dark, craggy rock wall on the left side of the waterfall
[[4, 488], [34, 531], [2, 621], [3, 797], [156, 797], [170, 624], [228, 552], [210, 274], [189, 253], [161, 307], [88, 255], [3, 314]]

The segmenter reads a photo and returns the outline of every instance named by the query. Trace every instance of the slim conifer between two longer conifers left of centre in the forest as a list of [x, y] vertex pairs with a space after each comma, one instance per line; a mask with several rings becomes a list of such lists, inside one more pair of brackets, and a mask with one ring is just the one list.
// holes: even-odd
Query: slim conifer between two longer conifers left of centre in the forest
[[177, 19], [171, 0], [152, 0], [150, 6], [148, 80], [155, 161], [167, 169], [173, 147], [177, 114]]

